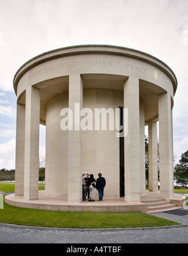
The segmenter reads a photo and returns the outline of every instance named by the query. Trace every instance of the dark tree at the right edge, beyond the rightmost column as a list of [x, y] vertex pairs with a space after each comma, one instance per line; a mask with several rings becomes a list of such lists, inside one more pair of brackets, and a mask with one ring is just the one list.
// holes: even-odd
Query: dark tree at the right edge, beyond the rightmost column
[[182, 153], [179, 164], [174, 167], [174, 180], [181, 186], [188, 184], [188, 150]]

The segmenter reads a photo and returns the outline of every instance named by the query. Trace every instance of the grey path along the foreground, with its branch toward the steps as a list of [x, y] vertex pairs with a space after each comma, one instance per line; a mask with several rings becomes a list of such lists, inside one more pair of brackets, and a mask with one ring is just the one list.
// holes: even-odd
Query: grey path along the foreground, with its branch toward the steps
[[184, 223], [168, 228], [127, 228], [123, 230], [62, 230], [0, 225], [0, 243], [188, 243], [188, 211], [177, 209], [155, 216]]

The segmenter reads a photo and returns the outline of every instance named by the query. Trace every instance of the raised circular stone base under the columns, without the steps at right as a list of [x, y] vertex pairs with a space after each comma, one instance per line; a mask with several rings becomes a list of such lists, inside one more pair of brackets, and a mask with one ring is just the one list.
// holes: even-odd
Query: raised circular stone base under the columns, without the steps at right
[[23, 196], [15, 196], [14, 194], [6, 196], [4, 200], [5, 203], [11, 204], [13, 206], [53, 211], [147, 211], [147, 204], [128, 204], [124, 201], [124, 198], [103, 199], [103, 201], [95, 199], [95, 202], [83, 201], [78, 204], [73, 204], [68, 203], [66, 198], [46, 196], [45, 191], [39, 191], [38, 199], [35, 200], [25, 200]]

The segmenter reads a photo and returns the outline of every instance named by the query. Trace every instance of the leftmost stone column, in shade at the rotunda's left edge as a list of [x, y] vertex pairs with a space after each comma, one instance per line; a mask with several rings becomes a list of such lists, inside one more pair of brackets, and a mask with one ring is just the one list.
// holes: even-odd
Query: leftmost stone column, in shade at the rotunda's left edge
[[25, 105], [17, 103], [15, 196], [24, 194]]

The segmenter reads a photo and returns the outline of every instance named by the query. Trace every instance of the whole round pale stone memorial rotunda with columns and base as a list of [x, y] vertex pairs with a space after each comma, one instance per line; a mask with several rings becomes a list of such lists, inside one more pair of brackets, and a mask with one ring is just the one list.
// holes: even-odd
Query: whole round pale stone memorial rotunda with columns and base
[[[176, 89], [168, 65], [130, 48], [79, 45], [32, 58], [14, 76], [16, 184], [6, 202], [65, 211], [147, 211], [143, 198], [150, 193], [178, 205], [172, 146]], [[39, 124], [46, 126], [45, 191], [38, 191]], [[146, 125], [150, 192], [145, 191]], [[104, 201], [82, 202], [82, 172], [95, 179], [102, 173]]]

